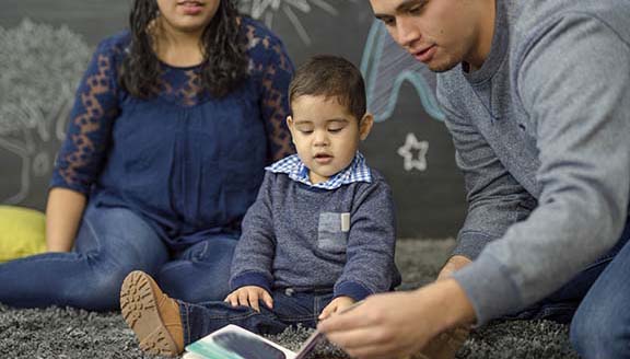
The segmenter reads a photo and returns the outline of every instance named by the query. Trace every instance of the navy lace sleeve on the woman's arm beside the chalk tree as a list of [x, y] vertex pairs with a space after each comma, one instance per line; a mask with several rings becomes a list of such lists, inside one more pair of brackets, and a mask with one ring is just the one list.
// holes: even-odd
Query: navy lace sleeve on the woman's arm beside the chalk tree
[[79, 83], [50, 187], [89, 194], [101, 171], [112, 124], [119, 112], [115, 54], [112, 45], [102, 43]]

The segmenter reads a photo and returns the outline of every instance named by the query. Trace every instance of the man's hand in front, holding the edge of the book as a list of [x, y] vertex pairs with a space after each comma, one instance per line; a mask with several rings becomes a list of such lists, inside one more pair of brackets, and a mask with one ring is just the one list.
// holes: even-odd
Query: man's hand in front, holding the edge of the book
[[369, 297], [357, 309], [318, 325], [353, 358], [397, 358], [419, 352], [438, 334], [475, 320], [474, 309], [454, 279], [411, 292]]

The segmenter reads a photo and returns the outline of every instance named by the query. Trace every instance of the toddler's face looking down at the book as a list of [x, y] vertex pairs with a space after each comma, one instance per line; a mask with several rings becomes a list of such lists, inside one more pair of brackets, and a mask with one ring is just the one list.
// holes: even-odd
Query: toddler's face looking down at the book
[[287, 123], [313, 184], [345, 170], [372, 127], [370, 115], [360, 126], [360, 118], [354, 118], [337, 97], [302, 95], [293, 100], [291, 108], [293, 117]]

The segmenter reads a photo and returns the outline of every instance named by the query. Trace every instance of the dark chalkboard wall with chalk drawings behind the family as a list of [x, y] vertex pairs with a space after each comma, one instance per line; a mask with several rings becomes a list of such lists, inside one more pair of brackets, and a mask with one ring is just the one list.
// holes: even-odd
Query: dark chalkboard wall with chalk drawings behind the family
[[[3, 0], [0, 202], [43, 209], [73, 92], [100, 39], [127, 26], [130, 0]], [[366, 79], [376, 125], [362, 151], [390, 183], [401, 238], [446, 238], [465, 213], [463, 180], [435, 103], [434, 74], [401, 51], [364, 0], [242, 0], [296, 65], [340, 55]]]

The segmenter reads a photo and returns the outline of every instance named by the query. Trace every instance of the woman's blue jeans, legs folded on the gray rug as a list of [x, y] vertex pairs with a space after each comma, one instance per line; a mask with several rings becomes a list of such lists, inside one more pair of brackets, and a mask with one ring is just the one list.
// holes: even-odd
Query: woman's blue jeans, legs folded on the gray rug
[[136, 269], [151, 274], [171, 297], [189, 302], [223, 300], [236, 243], [236, 235], [220, 234], [173, 252], [131, 210], [89, 206], [73, 252], [0, 265], [0, 303], [118, 310], [120, 285]]

